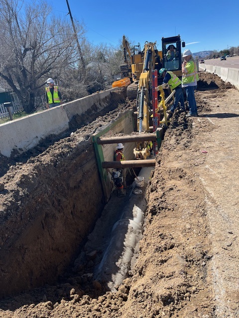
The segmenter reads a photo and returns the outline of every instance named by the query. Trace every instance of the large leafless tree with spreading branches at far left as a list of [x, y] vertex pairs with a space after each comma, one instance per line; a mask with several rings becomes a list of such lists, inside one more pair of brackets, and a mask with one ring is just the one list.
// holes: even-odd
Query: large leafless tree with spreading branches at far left
[[[0, 2], [0, 77], [27, 113], [35, 109], [35, 96], [46, 78], [59, 78], [79, 61], [70, 21], [51, 15], [51, 11], [43, 1]], [[77, 30], [82, 37], [83, 25], [77, 24]]]

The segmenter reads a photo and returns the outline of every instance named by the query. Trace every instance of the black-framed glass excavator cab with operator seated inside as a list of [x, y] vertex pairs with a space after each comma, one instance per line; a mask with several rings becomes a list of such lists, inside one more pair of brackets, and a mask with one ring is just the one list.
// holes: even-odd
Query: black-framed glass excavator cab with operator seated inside
[[[182, 42], [185, 47], [185, 42]], [[180, 35], [162, 38], [162, 64], [167, 71], [172, 71], [177, 76], [182, 76], [182, 55]]]

